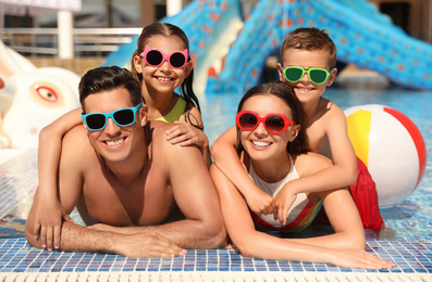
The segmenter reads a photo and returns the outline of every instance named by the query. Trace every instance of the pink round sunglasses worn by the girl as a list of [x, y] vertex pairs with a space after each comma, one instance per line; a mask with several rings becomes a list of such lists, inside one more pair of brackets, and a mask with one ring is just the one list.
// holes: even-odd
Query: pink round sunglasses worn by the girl
[[152, 67], [161, 66], [165, 61], [172, 68], [182, 68], [187, 65], [187, 49], [165, 55], [162, 51], [146, 46], [139, 56]]

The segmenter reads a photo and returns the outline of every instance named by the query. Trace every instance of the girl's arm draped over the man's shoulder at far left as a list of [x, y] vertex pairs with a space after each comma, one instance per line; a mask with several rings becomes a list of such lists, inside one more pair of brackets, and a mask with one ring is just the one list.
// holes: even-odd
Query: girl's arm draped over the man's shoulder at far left
[[60, 244], [60, 228], [62, 217], [70, 219], [62, 210], [57, 194], [57, 174], [62, 150], [62, 138], [76, 125], [81, 124], [81, 108], [61, 116], [52, 124], [42, 128], [39, 133], [38, 176], [39, 201], [36, 210], [34, 235], [41, 239], [49, 249]]

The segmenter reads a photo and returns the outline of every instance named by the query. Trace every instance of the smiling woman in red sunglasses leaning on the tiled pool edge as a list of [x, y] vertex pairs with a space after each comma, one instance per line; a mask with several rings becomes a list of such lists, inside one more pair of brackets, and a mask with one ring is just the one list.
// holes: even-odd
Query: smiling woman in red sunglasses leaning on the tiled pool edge
[[[332, 162], [309, 151], [306, 114], [292, 87], [273, 82], [251, 88], [243, 97], [236, 116], [236, 149], [244, 169], [255, 184], [275, 197], [284, 194], [284, 184], [316, 174]], [[343, 267], [370, 269], [394, 265], [365, 251], [365, 232], [347, 189], [299, 193], [285, 214], [277, 218], [276, 207], [255, 214], [243, 194], [213, 164], [210, 168], [220, 195], [222, 215], [229, 235], [244, 256], [263, 259], [329, 262]], [[321, 205], [329, 215], [333, 234], [282, 239], [256, 230], [301, 231], [312, 221]]]

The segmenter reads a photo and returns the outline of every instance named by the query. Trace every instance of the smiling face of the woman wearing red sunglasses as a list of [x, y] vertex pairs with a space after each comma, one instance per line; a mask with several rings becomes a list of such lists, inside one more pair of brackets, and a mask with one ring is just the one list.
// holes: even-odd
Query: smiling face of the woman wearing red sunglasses
[[[269, 114], [282, 114], [289, 120], [293, 120], [289, 106], [280, 98], [272, 94], [258, 94], [249, 98], [243, 104], [242, 111], [251, 111], [258, 114], [259, 117], [266, 117]], [[289, 126], [281, 133], [271, 133], [260, 123], [251, 131], [242, 130], [240, 140], [251, 159], [268, 161], [272, 157], [286, 156], [286, 145], [296, 138], [299, 128], [299, 125], [295, 125]]]

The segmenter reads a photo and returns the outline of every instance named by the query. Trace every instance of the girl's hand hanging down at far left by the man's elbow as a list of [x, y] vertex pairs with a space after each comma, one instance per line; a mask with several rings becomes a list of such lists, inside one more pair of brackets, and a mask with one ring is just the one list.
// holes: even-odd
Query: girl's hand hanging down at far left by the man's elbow
[[36, 210], [36, 221], [34, 236], [40, 239], [41, 246], [49, 251], [60, 247], [62, 222], [73, 221], [73, 219], [64, 213], [61, 203], [55, 201], [47, 201], [39, 204]]

